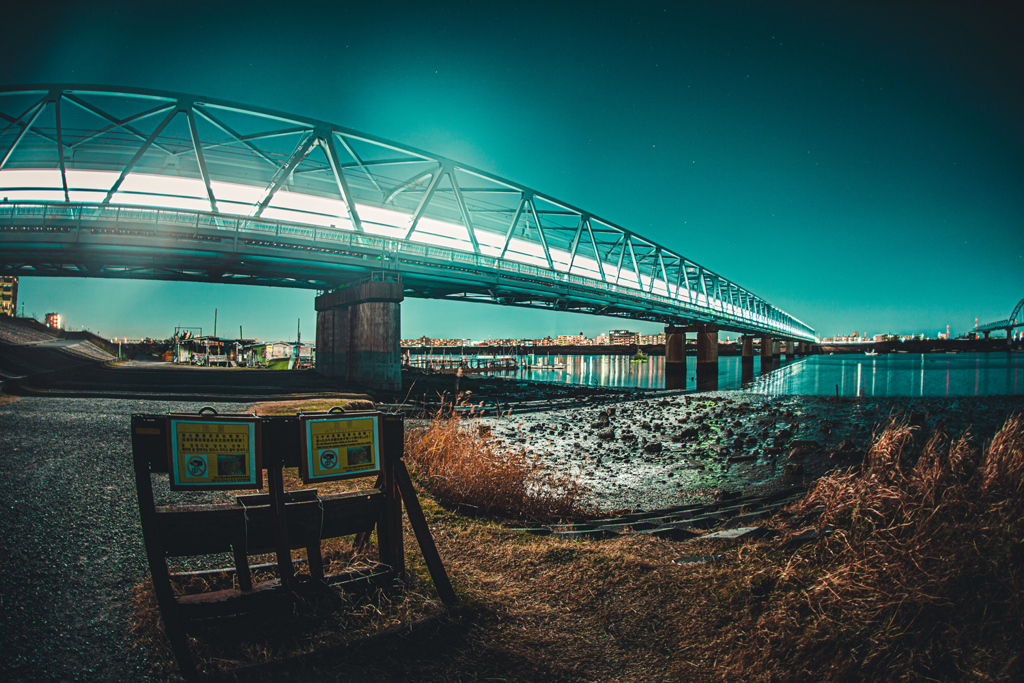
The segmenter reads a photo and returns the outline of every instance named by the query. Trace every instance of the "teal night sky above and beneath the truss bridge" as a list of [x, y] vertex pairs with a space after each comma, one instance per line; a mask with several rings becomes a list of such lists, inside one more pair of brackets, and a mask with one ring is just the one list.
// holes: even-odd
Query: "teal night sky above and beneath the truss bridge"
[[[60, 7], [60, 5], [63, 5]], [[921, 2], [22, 3], [0, 84], [177, 90], [460, 160], [651, 238], [822, 336], [1024, 297], [1024, 12]], [[608, 6], [605, 7], [604, 5]], [[294, 339], [313, 292], [25, 279], [108, 336]], [[654, 325], [410, 301], [402, 336]]]

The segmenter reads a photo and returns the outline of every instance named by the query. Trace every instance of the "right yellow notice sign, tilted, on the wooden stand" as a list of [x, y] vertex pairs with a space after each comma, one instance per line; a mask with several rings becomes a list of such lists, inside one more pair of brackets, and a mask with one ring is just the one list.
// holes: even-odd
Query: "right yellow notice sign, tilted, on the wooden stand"
[[377, 474], [381, 470], [379, 413], [300, 415], [304, 483]]

